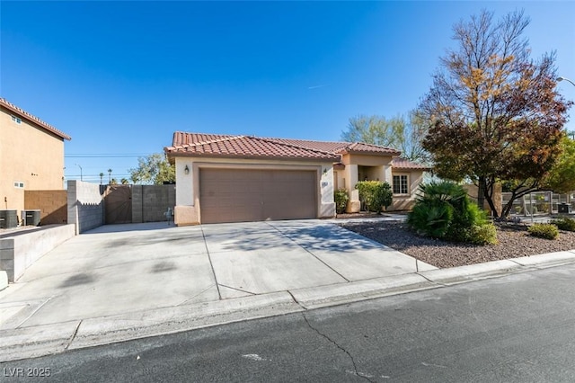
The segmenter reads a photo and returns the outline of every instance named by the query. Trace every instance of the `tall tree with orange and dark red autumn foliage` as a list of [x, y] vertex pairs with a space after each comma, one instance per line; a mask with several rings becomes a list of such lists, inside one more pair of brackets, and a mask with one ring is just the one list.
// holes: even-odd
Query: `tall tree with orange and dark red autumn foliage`
[[[423, 147], [438, 176], [471, 180], [478, 205], [496, 212], [494, 185], [513, 183], [513, 200], [542, 186], [561, 154], [566, 102], [556, 89], [554, 54], [535, 61], [522, 12], [498, 22], [483, 11], [454, 27], [457, 50], [441, 58], [418, 113], [429, 124]], [[497, 213], [496, 213], [497, 214]]]

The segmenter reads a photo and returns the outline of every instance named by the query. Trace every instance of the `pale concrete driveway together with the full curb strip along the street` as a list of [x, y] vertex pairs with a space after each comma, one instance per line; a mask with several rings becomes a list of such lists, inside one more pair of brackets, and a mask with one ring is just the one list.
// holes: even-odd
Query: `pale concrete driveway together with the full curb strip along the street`
[[99, 227], [0, 292], [0, 361], [566, 263], [575, 250], [438, 270], [321, 220]]

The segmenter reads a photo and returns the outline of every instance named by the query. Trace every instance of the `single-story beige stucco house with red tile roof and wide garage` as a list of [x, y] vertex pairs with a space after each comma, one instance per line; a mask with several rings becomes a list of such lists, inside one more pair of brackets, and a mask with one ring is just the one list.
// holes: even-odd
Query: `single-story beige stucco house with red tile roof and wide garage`
[[341, 188], [357, 212], [360, 180], [390, 183], [390, 209], [409, 209], [429, 170], [393, 148], [349, 142], [175, 132], [164, 151], [176, 166], [177, 225], [332, 218]]

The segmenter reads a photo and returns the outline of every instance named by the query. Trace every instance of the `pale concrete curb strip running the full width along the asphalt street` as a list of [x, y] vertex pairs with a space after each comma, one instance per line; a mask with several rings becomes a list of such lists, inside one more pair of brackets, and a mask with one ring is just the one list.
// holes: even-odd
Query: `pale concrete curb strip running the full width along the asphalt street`
[[575, 263], [575, 250], [367, 281], [155, 308], [119, 316], [1, 330], [3, 345], [0, 348], [0, 361], [17, 361], [66, 350], [303, 312], [306, 309], [338, 306], [423, 289], [438, 289], [569, 263]]

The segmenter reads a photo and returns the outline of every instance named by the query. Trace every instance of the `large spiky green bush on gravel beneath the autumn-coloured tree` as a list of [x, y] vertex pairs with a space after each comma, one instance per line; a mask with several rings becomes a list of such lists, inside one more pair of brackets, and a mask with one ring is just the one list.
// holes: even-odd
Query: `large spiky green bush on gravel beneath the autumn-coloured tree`
[[411, 229], [425, 236], [472, 244], [494, 244], [496, 229], [463, 186], [441, 182], [420, 185], [420, 196], [407, 216]]

